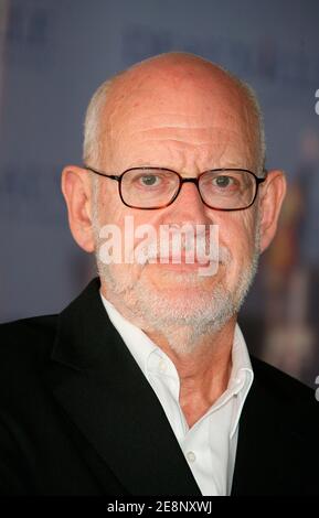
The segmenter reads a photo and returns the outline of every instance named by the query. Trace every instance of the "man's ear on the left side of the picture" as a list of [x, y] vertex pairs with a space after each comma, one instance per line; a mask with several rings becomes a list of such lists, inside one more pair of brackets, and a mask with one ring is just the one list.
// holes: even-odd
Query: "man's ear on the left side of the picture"
[[94, 251], [92, 226], [92, 185], [87, 170], [67, 165], [62, 172], [61, 187], [66, 202], [68, 225], [77, 245]]

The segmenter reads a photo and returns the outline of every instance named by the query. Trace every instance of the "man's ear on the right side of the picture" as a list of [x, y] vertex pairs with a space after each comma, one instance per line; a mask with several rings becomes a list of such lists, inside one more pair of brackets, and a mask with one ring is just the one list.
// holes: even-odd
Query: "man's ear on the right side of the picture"
[[277, 230], [280, 208], [286, 195], [287, 182], [283, 171], [268, 171], [260, 188], [260, 252], [266, 250]]

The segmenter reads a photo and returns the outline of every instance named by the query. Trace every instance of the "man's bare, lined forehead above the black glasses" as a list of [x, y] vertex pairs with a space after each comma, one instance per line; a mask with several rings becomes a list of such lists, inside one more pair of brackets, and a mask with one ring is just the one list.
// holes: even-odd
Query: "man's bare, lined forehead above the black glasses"
[[203, 161], [242, 153], [248, 160], [256, 147], [255, 123], [242, 89], [220, 72], [142, 71], [114, 88], [100, 137], [116, 162], [126, 157], [134, 164], [148, 154], [174, 160], [183, 153]]

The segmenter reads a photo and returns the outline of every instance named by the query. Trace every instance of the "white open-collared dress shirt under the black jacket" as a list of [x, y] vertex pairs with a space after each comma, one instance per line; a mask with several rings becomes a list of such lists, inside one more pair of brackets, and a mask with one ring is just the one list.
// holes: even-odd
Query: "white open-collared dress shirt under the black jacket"
[[[109, 320], [156, 392], [192, 474], [204, 496], [230, 495], [238, 421], [254, 374], [245, 339], [236, 324], [232, 371], [225, 392], [192, 428], [179, 403], [180, 379], [172, 360], [102, 294]], [[146, 409], [147, 414], [147, 409]], [[169, 468], [169, 465], [168, 465]]]

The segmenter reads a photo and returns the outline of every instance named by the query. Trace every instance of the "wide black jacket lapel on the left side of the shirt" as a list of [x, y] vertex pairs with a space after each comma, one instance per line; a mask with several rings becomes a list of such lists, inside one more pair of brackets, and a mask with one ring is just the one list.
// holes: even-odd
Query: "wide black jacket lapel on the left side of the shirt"
[[[163, 409], [108, 320], [99, 280], [59, 316], [46, 380], [132, 495], [201, 495]], [[103, 481], [103, 470], [95, 474]]]

